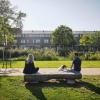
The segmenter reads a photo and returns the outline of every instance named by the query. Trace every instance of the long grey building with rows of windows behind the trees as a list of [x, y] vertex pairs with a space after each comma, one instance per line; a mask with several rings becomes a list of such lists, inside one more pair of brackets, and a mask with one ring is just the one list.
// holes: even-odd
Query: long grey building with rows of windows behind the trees
[[[53, 31], [23, 31], [16, 34], [15, 46], [20, 48], [44, 48], [51, 47], [51, 34]], [[73, 31], [74, 37], [79, 42], [84, 33], [93, 31]]]

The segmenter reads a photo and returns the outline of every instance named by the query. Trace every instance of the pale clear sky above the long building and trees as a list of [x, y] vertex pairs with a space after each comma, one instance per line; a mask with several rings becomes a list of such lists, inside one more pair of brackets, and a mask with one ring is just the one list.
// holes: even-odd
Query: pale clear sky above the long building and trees
[[100, 30], [100, 0], [10, 0], [26, 13], [23, 30]]

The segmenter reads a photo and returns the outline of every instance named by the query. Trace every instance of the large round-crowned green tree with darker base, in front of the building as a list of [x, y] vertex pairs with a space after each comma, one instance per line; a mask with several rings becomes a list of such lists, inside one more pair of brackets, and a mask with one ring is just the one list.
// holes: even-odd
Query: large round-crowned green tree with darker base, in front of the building
[[52, 33], [52, 44], [57, 47], [59, 54], [65, 56], [68, 53], [68, 46], [75, 44], [72, 29], [64, 25], [57, 27]]

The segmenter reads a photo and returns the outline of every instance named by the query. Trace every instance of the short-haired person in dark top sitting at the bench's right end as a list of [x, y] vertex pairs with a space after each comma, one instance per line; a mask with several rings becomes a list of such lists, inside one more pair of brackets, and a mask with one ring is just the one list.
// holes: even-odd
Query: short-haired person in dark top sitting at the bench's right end
[[75, 53], [74, 54], [74, 60], [73, 60], [73, 62], [72, 62], [72, 66], [71, 66], [71, 69], [73, 70], [73, 71], [81, 71], [81, 59], [79, 58], [79, 56], [78, 56], [78, 53]]

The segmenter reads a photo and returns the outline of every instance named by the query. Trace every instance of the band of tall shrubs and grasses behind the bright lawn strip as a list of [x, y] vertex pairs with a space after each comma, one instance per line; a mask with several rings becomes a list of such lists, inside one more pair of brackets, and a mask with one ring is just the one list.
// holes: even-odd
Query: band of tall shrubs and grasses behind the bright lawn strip
[[[15, 49], [10, 51], [11, 57], [14, 60], [25, 60], [29, 53], [32, 53], [35, 57], [35, 60], [61, 60], [62, 56], [64, 56], [63, 60], [73, 60], [74, 53], [76, 51], [64, 51], [59, 50], [58, 53], [53, 49], [34, 49], [34, 50], [23, 50], [23, 49]], [[3, 51], [0, 50], [0, 58], [3, 56]], [[6, 52], [7, 57], [9, 58], [9, 50]], [[82, 60], [100, 60], [100, 52], [78, 52], [79, 56]], [[59, 56], [59, 54], [61, 54]], [[63, 54], [63, 55], [62, 55]]]

